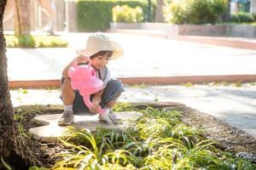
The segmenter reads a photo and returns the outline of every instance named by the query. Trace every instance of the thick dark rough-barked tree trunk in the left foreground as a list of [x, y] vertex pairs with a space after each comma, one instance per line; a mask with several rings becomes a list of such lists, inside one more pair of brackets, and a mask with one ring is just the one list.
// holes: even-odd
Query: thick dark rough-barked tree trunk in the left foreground
[[[36, 158], [29, 149], [28, 141], [20, 135], [14, 121], [14, 111], [10, 100], [7, 76], [7, 58], [3, 37], [3, 12], [7, 0], [0, 1], [0, 169], [3, 159], [15, 163], [22, 169], [25, 164], [37, 164]], [[20, 163], [20, 165], [17, 165]], [[20, 167], [22, 166], [22, 167]]]

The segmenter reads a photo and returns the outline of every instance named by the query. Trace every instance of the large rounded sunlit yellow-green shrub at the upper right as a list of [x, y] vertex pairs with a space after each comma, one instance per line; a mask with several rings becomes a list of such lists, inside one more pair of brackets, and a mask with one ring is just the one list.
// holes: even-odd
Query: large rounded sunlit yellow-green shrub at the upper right
[[227, 0], [179, 0], [166, 6], [165, 19], [175, 24], [216, 23], [227, 10]]

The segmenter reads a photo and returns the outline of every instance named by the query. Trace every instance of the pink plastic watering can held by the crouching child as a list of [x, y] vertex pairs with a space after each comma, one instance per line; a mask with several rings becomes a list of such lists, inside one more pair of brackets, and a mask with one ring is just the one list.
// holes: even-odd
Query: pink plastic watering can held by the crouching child
[[[90, 108], [92, 106], [90, 95], [103, 88], [103, 82], [96, 77], [96, 71], [91, 66], [91, 60], [88, 59], [88, 65], [78, 65], [78, 62], [74, 62], [68, 70], [68, 75], [71, 78], [72, 88], [79, 90], [79, 94], [83, 96], [84, 104]], [[100, 109], [100, 114], [109, 124], [117, 122], [117, 118], [108, 109]]]

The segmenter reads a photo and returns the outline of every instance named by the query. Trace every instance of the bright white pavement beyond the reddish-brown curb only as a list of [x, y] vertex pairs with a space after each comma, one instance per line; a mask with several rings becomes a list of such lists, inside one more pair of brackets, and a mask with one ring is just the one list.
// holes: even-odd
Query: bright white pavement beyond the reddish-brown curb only
[[[62, 69], [76, 56], [75, 49], [83, 48], [88, 35], [62, 35], [70, 42], [70, 48], [8, 48], [9, 81], [60, 79]], [[256, 50], [155, 37], [108, 35], [125, 49], [122, 58], [108, 65], [113, 77], [256, 75]]]

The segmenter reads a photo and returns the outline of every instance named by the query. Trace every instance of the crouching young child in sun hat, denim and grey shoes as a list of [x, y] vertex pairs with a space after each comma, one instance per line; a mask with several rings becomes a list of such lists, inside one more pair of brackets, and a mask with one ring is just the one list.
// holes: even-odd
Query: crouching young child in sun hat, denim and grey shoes
[[[86, 47], [79, 51], [79, 56], [73, 59], [62, 72], [61, 99], [64, 104], [64, 111], [58, 122], [59, 125], [73, 123], [73, 114], [80, 114], [88, 110], [97, 114], [100, 108], [111, 109], [113, 107], [120, 94], [124, 92], [124, 88], [118, 80], [110, 79], [110, 72], [106, 65], [108, 65], [110, 59], [118, 59], [122, 54], [123, 48], [102, 33], [94, 33], [88, 37]], [[68, 70], [74, 62], [84, 64], [88, 61], [88, 58], [91, 59], [91, 65], [96, 71], [96, 77], [103, 81], [103, 89], [90, 96], [93, 104], [90, 109], [84, 105], [83, 97], [79, 94], [79, 91], [73, 90], [68, 76]], [[102, 117], [99, 118], [102, 119]]]

